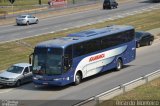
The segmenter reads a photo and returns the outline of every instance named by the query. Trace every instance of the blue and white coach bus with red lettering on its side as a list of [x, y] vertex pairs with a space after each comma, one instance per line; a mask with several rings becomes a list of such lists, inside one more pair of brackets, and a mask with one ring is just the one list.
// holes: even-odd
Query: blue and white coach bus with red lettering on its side
[[112, 25], [40, 42], [30, 56], [33, 83], [78, 85], [86, 77], [120, 70], [136, 57], [134, 36], [133, 26]]

